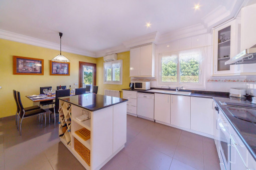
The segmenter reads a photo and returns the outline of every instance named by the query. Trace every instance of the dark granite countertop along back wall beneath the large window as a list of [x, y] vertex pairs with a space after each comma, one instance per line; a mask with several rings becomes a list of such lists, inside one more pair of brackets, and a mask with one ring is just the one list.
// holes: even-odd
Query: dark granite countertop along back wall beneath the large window
[[[151, 88], [151, 89], [162, 89], [162, 90], [171, 90], [175, 91], [173, 88]], [[130, 89], [130, 88], [123, 88], [122, 90], [131, 90], [131, 91], [138, 91], [138, 92], [144, 92], [144, 93], [161, 93], [161, 92], [152, 92], [149, 90], [138, 90], [138, 89]], [[225, 97], [228, 98], [228, 92], [220, 92], [220, 91], [203, 91], [203, 90], [189, 90], [189, 89], [180, 89], [179, 91], [187, 91], [191, 92], [190, 95], [186, 96], [193, 96], [193, 97], [206, 97], [206, 98], [212, 98], [212, 97]], [[185, 94], [172, 94], [172, 95], [185, 95]]]

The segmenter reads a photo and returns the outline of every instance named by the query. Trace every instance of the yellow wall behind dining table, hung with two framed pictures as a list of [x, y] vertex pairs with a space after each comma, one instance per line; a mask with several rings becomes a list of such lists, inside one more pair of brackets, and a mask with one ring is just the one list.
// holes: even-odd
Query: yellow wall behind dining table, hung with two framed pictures
[[[79, 81], [79, 61], [96, 63], [96, 58], [93, 57], [62, 52], [70, 59], [70, 75], [49, 75], [49, 60], [58, 54], [58, 50], [0, 39], [0, 117], [16, 113], [13, 89], [21, 92], [23, 105], [30, 106], [33, 102], [25, 95], [38, 94], [40, 86], [56, 88], [61, 84], [74, 88], [73, 84]], [[14, 75], [13, 55], [44, 59], [44, 75]]]

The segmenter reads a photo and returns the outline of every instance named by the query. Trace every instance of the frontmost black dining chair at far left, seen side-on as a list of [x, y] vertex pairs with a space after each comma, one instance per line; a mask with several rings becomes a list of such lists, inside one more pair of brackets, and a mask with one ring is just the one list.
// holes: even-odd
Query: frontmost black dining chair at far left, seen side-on
[[[38, 109], [25, 111], [22, 101], [21, 101], [21, 94], [19, 91], [16, 91], [16, 96], [17, 96], [17, 101], [18, 101], [18, 105], [20, 108], [20, 112], [18, 114], [18, 128], [19, 128], [18, 130], [20, 130], [20, 135], [22, 134], [22, 121], [24, 118], [27, 118], [27, 117], [30, 117], [33, 115], [44, 114], [45, 115], [45, 126], [46, 126], [46, 114], [45, 114], [46, 110], [44, 110], [43, 108], [38, 108]], [[20, 118], [21, 118], [21, 123], [20, 123]]]

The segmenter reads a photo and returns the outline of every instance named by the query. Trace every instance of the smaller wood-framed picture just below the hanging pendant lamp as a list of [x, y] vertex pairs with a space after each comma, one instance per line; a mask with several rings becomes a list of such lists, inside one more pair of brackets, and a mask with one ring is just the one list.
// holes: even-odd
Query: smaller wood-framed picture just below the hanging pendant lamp
[[70, 75], [70, 62], [50, 60], [50, 75]]

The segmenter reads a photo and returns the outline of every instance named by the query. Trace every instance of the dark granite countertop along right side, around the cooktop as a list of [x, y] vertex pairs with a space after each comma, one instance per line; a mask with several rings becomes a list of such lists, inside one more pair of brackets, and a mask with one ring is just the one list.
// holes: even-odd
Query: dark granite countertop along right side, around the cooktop
[[213, 97], [213, 99], [216, 101], [219, 109], [224, 113], [254, 160], [256, 160], [256, 124], [234, 117], [227, 109], [230, 106], [222, 105], [219, 101], [241, 104], [251, 104], [251, 102], [249, 100], [239, 100], [237, 98]]

